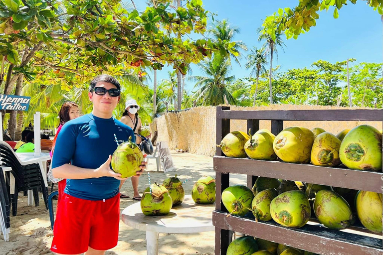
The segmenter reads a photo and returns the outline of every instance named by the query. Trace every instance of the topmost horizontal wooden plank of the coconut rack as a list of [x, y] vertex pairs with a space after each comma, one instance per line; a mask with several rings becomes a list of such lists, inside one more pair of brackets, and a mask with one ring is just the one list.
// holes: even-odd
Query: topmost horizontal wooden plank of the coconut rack
[[283, 121], [383, 121], [383, 110], [217, 111], [217, 119]]

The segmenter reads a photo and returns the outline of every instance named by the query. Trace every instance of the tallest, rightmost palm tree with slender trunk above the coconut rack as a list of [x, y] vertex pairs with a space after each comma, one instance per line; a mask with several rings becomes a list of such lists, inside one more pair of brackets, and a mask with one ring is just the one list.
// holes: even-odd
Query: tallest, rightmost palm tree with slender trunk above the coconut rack
[[[257, 31], [259, 33], [261, 33], [262, 28], [261, 27], [258, 28]], [[283, 40], [281, 38], [281, 34], [278, 32], [275, 32], [274, 39], [272, 38], [272, 36], [270, 34], [262, 32], [259, 35], [258, 41], [265, 41], [265, 43], [263, 44], [262, 47], [265, 49], [265, 55], [270, 56], [270, 74], [269, 74], [270, 75], [270, 77], [269, 77], [270, 104], [273, 104], [273, 91], [272, 91], [272, 87], [271, 87], [271, 78], [272, 78], [272, 70], [273, 70], [273, 55], [275, 53], [275, 55], [278, 58], [277, 46], [281, 47], [283, 50], [283, 45], [286, 46], [286, 44], [283, 42]]]

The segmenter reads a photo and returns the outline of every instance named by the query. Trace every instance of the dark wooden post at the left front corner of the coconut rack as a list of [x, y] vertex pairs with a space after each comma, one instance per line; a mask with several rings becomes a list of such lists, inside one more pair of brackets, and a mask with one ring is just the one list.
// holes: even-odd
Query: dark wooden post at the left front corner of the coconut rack
[[[220, 113], [222, 111], [230, 110], [230, 107], [217, 107], [216, 113], [216, 144], [220, 144], [223, 137], [230, 132], [230, 120], [221, 119]], [[215, 155], [224, 156], [221, 148], [217, 147]], [[221, 201], [222, 191], [229, 186], [228, 173], [215, 173], [215, 210], [227, 212], [225, 206]], [[215, 255], [226, 255], [227, 247], [231, 241], [231, 231], [215, 228]]]

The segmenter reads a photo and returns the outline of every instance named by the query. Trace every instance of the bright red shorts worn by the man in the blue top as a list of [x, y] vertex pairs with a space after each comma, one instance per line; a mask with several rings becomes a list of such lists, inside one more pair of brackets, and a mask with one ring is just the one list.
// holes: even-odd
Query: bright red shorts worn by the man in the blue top
[[85, 200], [63, 194], [57, 210], [50, 250], [58, 254], [106, 251], [117, 245], [120, 194], [105, 200]]

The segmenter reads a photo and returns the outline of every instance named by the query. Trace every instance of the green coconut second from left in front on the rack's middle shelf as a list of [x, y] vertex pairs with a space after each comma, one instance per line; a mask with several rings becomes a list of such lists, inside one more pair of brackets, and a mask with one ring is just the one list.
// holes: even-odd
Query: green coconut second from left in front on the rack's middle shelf
[[256, 221], [270, 221], [272, 219], [270, 214], [270, 203], [277, 195], [278, 193], [275, 189], [262, 190], [255, 195], [251, 203], [251, 210]]

